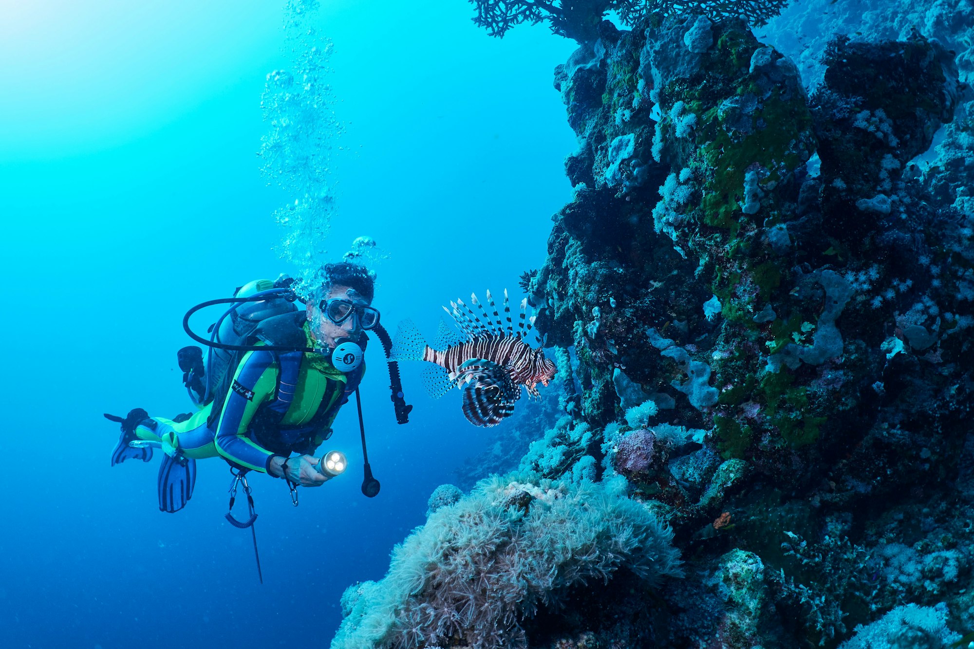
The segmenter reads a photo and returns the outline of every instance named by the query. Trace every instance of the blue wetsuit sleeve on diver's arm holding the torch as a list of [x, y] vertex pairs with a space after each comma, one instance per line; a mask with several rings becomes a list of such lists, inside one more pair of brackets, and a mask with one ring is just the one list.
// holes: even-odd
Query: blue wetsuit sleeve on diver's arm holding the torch
[[234, 375], [216, 426], [216, 450], [234, 464], [267, 472], [273, 453], [247, 436], [261, 403], [273, 397], [277, 363], [270, 352], [247, 352]]

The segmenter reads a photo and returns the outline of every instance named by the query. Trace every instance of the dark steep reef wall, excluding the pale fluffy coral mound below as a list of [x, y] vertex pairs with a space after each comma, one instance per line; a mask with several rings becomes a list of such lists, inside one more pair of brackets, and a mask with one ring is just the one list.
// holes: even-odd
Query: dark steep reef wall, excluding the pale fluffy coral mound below
[[671, 587], [672, 646], [834, 644], [948, 588], [877, 571], [956, 532], [884, 516], [962, 496], [972, 214], [930, 191], [951, 170], [910, 170], [967, 89], [916, 31], [822, 65], [809, 96], [743, 22], [671, 17], [604, 22], [555, 72], [575, 201], [532, 299], [578, 356], [578, 425], [626, 421], [595, 435], [605, 471], [707, 566]]

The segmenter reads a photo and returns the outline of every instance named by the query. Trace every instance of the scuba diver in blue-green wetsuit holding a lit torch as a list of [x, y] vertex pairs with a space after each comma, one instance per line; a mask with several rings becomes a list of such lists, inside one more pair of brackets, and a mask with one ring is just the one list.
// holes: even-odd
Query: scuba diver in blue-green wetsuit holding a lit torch
[[[292, 286], [302, 286], [305, 299]], [[147, 462], [153, 448], [162, 449], [158, 489], [159, 507], [165, 512], [186, 505], [193, 493], [196, 460], [209, 457], [222, 457], [230, 464], [236, 478], [234, 495], [244, 474], [266, 473], [287, 481], [297, 505], [296, 485], [320, 486], [344, 470], [340, 453], [327, 454], [331, 459], [326, 469], [315, 451], [331, 436], [332, 421], [342, 405], [353, 393], [357, 399], [365, 370], [366, 332], [375, 332], [389, 355], [389, 335], [379, 325], [379, 311], [371, 306], [374, 286], [374, 276], [364, 266], [330, 263], [314, 282], [286, 276], [276, 283], [259, 280], [238, 288], [232, 298], [191, 309], [183, 326], [209, 348], [206, 363], [200, 347], [185, 347], [178, 356], [183, 383], [198, 410], [173, 419], [149, 416], [141, 408], [124, 418], [106, 414], [122, 428], [112, 466], [133, 458]], [[296, 300], [305, 302], [303, 310]], [[189, 318], [214, 304], [233, 306], [210, 327], [207, 340], [192, 331]], [[406, 423], [412, 406], [403, 401], [395, 363], [389, 368], [396, 419]], [[368, 465], [360, 401], [357, 406], [365, 460], [362, 492], [372, 497], [379, 482]], [[252, 523], [256, 515], [245, 479], [244, 491]]]

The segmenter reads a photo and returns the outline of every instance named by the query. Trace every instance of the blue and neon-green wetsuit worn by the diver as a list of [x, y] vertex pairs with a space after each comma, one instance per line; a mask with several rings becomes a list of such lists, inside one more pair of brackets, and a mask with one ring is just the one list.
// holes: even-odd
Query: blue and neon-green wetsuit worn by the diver
[[[314, 347], [307, 323], [303, 329], [307, 346]], [[185, 421], [152, 417], [135, 435], [161, 441], [187, 458], [219, 456], [266, 473], [272, 456], [311, 454], [330, 437], [331, 423], [363, 371], [362, 365], [346, 375], [306, 352], [247, 352], [222, 402], [206, 404]], [[214, 407], [219, 416], [213, 416]]]

